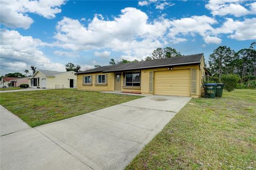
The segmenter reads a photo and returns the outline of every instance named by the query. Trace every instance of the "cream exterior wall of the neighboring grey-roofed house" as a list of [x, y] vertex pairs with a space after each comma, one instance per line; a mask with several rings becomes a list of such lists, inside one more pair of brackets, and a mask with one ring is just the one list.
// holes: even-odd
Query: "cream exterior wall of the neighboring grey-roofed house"
[[[57, 74], [55, 77], [48, 77], [46, 79], [46, 88], [70, 88], [70, 80], [74, 79], [74, 87], [76, 87], [77, 77], [75, 72], [66, 72], [62, 74]], [[42, 79], [39, 81], [42, 87]]]

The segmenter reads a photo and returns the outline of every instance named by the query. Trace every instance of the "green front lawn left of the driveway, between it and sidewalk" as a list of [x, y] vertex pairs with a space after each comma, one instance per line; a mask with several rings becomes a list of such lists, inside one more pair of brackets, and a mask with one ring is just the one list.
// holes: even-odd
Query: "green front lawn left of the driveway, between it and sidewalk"
[[1, 93], [0, 104], [35, 127], [140, 97], [76, 89], [40, 90]]

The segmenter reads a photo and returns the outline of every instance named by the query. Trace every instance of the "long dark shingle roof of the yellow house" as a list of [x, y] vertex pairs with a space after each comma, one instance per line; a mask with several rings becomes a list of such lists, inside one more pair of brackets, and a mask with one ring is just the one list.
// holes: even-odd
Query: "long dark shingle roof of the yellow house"
[[86, 71], [81, 71], [76, 74], [94, 73], [94, 72], [117, 72], [117, 71], [148, 69], [148, 68], [154, 68], [154, 67], [191, 65], [191, 64], [200, 63], [203, 56], [204, 54], [201, 53], [201, 54], [186, 55], [186, 56], [172, 57], [172, 58], [162, 58], [157, 60], [149, 60], [149, 61], [142, 61], [142, 62], [127, 63], [127, 64], [108, 65], [108, 66], [97, 67], [97, 68], [86, 70]]

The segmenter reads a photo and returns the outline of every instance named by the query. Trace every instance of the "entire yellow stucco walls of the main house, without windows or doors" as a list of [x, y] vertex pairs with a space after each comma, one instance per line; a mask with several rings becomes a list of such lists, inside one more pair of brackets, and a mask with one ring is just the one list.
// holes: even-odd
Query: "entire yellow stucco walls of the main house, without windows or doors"
[[[204, 65], [203, 62], [201, 62], [201, 68]], [[197, 69], [197, 89], [196, 89], [196, 95], [192, 97], [199, 97], [202, 90], [201, 90], [201, 84], [202, 84], [202, 74], [204, 71], [199, 69], [199, 65], [189, 65], [189, 66], [177, 66], [172, 67], [173, 70], [187, 70], [187, 69]], [[165, 68], [159, 68], [159, 69], [147, 69], [147, 70], [141, 70], [141, 86], [140, 89], [134, 89], [134, 87], [125, 87], [123, 84], [123, 74], [121, 75], [121, 83], [122, 83], [122, 91], [123, 92], [138, 92], [141, 94], [148, 94], [153, 95], [153, 93], [149, 92], [149, 72], [157, 72], [157, 71], [168, 71], [168, 67]], [[78, 90], [89, 90], [89, 91], [114, 91], [114, 82], [115, 82], [115, 73], [107, 73], [108, 74], [108, 82], [107, 86], [95, 86], [95, 75], [97, 74], [106, 74], [106, 73], [91, 73], [91, 74], [78, 74], [77, 75], [77, 89]], [[92, 76], [92, 84], [91, 86], [86, 86], [83, 84], [83, 77], [84, 75], [91, 75]], [[190, 80], [189, 80], [190, 81]], [[191, 83], [191, 82], [190, 82]]]

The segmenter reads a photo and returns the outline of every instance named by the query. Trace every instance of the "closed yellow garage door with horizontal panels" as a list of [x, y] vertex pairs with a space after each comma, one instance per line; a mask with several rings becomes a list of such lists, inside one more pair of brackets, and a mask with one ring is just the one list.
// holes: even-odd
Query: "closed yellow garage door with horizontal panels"
[[154, 94], [190, 96], [190, 70], [155, 72]]

